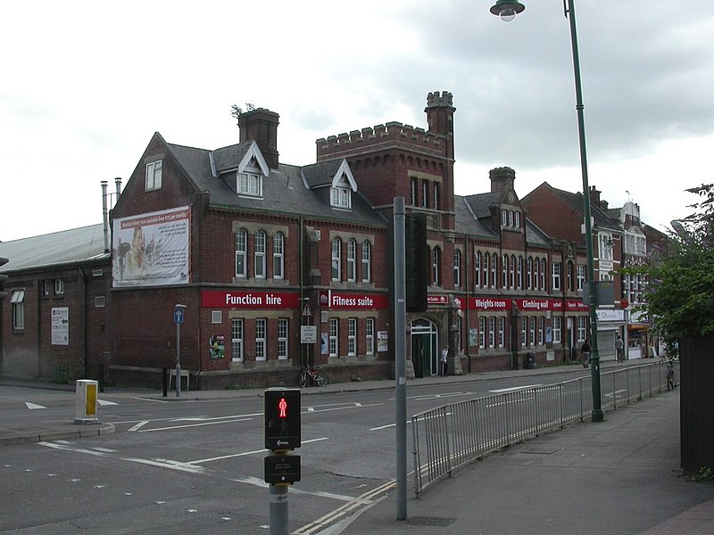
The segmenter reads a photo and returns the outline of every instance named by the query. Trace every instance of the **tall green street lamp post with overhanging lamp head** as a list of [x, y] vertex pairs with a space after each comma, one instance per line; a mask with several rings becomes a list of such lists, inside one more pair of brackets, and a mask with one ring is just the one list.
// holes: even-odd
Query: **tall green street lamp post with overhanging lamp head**
[[[567, 2], [567, 5], [566, 5]], [[575, 1], [563, 0], [565, 16], [570, 21], [570, 42], [573, 48], [573, 70], [575, 72], [575, 96], [577, 111], [577, 131], [580, 141], [580, 169], [583, 175], [583, 211], [585, 212], [585, 249], [587, 251], [587, 295], [590, 315], [590, 363], [593, 381], [593, 422], [602, 422], [600, 394], [600, 352], [597, 344], [597, 300], [595, 297], [595, 268], [593, 255], [593, 220], [590, 215], [590, 186], [587, 180], [587, 152], [585, 151], [585, 115], [583, 110], [583, 89], [580, 81], [580, 57], [577, 52], [577, 24], [575, 19]], [[511, 0], [496, 0], [491, 7], [494, 15], [502, 21], [512, 21], [526, 6]]]

